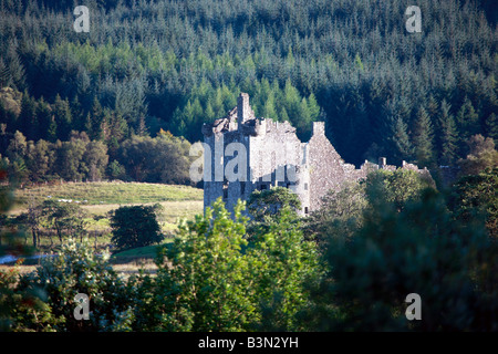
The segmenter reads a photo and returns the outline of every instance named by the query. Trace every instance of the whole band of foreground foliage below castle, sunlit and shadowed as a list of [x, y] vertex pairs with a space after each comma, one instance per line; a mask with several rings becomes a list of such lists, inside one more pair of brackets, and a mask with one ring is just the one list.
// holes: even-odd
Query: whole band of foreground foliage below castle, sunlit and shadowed
[[[230, 216], [218, 200], [162, 248], [155, 277], [126, 283], [87, 244], [70, 243], [32, 274], [0, 274], [2, 329], [496, 331], [496, 175], [463, 178], [449, 204], [434, 188], [408, 188], [411, 176], [395, 184], [405, 195], [388, 192], [394, 175], [369, 176], [313, 220], [308, 237], [321, 248], [290, 208], [248, 239], [242, 205]], [[73, 319], [77, 292], [90, 295], [89, 322]], [[409, 293], [422, 298], [422, 321], [405, 317]]]

